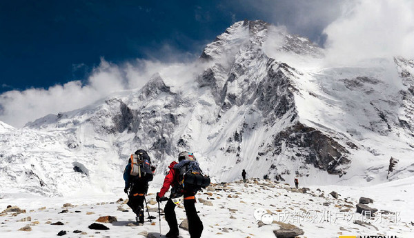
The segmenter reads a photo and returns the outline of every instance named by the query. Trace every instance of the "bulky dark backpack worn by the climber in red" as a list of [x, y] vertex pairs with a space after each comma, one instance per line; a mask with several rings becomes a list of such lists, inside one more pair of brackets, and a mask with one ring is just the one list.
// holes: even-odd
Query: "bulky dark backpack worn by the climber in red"
[[178, 193], [197, 193], [199, 190], [210, 185], [210, 178], [203, 175], [199, 163], [193, 160], [182, 160], [174, 166], [177, 170], [177, 188]]

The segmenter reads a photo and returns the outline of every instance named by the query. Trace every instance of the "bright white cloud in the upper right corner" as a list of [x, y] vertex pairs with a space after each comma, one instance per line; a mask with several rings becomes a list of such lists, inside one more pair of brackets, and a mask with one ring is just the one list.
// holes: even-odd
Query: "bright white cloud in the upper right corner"
[[344, 8], [324, 32], [331, 63], [414, 57], [414, 1], [362, 0]]

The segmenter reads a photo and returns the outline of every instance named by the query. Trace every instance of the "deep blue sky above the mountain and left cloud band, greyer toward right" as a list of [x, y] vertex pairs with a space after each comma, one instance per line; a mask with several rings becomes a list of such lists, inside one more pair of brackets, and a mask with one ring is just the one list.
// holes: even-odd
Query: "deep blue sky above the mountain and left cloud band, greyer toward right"
[[[0, 92], [84, 80], [101, 57], [188, 61], [235, 21], [263, 19], [323, 44], [326, 1], [1, 1]], [[329, 5], [329, 4], [328, 4]]]

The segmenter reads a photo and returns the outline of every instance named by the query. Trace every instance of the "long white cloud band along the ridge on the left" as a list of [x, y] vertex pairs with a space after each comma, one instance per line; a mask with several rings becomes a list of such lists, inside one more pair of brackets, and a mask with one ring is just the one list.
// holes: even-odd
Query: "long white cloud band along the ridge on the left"
[[[101, 59], [86, 83], [70, 81], [48, 89], [12, 90], [0, 95], [0, 121], [21, 127], [48, 114], [76, 110], [108, 97], [112, 92], [141, 88], [159, 72], [166, 83], [179, 86], [204, 67], [199, 63], [161, 63], [137, 60], [115, 65]], [[194, 80], [193, 80], [194, 81]]]

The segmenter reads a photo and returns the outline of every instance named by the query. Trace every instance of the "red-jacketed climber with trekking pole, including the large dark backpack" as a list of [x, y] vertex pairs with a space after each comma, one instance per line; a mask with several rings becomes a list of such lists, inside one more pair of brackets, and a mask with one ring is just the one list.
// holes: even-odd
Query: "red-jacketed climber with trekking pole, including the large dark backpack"
[[188, 232], [191, 238], [201, 237], [203, 232], [203, 223], [197, 215], [195, 210], [195, 194], [201, 188], [205, 188], [210, 184], [210, 178], [202, 175], [199, 164], [196, 161], [193, 153], [180, 152], [178, 161], [170, 163], [170, 171], [164, 179], [164, 184], [159, 192], [157, 192], [157, 201], [163, 201], [165, 193], [170, 186], [170, 198], [164, 208], [165, 218], [170, 227], [166, 234], [168, 238], [176, 238], [179, 235], [177, 217], [175, 217], [175, 206], [179, 204], [179, 197], [184, 196], [184, 208], [186, 209], [186, 216], [188, 221]]

